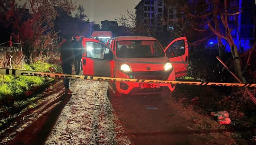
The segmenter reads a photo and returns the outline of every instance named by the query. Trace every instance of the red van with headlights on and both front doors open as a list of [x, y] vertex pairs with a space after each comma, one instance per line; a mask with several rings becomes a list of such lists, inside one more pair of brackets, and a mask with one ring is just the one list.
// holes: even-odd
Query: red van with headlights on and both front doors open
[[[92, 76], [175, 80], [188, 70], [186, 37], [173, 40], [165, 49], [153, 37], [121, 36], [110, 47], [94, 39], [83, 39], [83, 74]], [[156, 94], [173, 91], [174, 84], [113, 82], [115, 95]]]

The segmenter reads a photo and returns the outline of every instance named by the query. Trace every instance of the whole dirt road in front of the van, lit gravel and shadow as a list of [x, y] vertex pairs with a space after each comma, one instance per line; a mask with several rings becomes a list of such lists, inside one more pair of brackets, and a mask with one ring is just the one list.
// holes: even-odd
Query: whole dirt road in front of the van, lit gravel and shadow
[[235, 144], [224, 125], [169, 93], [115, 97], [107, 82], [75, 80], [65, 95], [60, 86], [1, 131], [0, 144]]

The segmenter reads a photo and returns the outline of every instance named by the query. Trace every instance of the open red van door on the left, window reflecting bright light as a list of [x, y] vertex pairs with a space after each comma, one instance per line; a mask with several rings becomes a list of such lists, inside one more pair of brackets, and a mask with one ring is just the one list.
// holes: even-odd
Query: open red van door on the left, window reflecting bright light
[[83, 75], [113, 77], [113, 52], [103, 42], [84, 38], [82, 42]]

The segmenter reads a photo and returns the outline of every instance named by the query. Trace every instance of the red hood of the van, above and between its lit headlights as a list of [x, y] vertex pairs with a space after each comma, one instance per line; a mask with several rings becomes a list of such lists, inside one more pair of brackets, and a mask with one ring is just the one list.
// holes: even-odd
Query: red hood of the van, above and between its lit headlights
[[159, 58], [118, 58], [116, 61], [130, 65], [132, 71], [160, 71], [164, 70], [166, 56]]

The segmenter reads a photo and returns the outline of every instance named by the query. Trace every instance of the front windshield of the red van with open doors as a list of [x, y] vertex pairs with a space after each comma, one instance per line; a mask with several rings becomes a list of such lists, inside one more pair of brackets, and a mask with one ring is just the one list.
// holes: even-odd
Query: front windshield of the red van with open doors
[[163, 57], [165, 53], [158, 41], [127, 40], [117, 41], [117, 57], [119, 58], [152, 58]]

